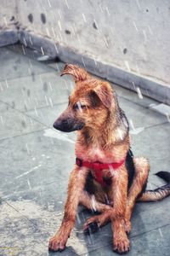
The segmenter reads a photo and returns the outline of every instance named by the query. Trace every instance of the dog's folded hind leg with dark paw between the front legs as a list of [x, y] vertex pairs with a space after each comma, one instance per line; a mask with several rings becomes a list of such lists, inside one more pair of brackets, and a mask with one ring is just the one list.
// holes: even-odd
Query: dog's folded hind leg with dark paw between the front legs
[[107, 224], [111, 220], [112, 207], [97, 201], [95, 196], [88, 194], [87, 191], [82, 192], [80, 204], [89, 210], [101, 212], [101, 214], [87, 219], [83, 227], [86, 233], [94, 233], [99, 227]]

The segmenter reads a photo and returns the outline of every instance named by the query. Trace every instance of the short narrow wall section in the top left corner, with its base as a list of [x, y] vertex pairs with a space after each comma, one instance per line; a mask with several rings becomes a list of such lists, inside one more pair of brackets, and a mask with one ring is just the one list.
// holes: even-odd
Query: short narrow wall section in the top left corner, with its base
[[0, 46], [18, 41], [16, 0], [0, 1]]

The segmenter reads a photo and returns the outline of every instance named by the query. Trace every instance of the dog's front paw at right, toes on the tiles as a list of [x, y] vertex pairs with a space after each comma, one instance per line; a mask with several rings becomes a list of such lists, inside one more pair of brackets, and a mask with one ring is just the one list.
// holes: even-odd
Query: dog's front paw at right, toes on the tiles
[[124, 254], [128, 253], [130, 249], [130, 241], [126, 237], [118, 237], [114, 239], [113, 242], [113, 251], [115, 253]]

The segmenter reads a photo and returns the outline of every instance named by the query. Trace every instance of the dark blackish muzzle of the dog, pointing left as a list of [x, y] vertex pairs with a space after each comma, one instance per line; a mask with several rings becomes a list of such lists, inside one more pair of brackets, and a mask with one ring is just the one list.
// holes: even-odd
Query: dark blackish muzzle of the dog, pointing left
[[79, 121], [74, 121], [72, 119], [65, 119], [65, 120], [59, 120], [57, 119], [54, 122], [54, 128], [59, 131], [64, 131], [64, 132], [71, 132], [71, 131], [78, 131], [82, 130], [84, 127], [84, 123]]

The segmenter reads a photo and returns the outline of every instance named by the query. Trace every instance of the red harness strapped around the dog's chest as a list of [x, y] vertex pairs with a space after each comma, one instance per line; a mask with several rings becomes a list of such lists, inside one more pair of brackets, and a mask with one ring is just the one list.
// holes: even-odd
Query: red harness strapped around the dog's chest
[[89, 169], [93, 169], [94, 178], [104, 187], [105, 187], [106, 183], [103, 180], [103, 173], [101, 171], [105, 170], [105, 169], [111, 169], [111, 168], [113, 168], [113, 170], [116, 170], [120, 166], [122, 166], [122, 164], [124, 162], [125, 162], [125, 159], [121, 160], [118, 163], [103, 164], [103, 163], [100, 163], [100, 162], [83, 161], [79, 158], [76, 159], [77, 166], [80, 166], [80, 167], [84, 166], [84, 167], [88, 167]]

